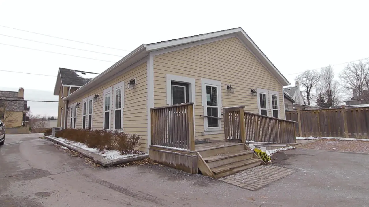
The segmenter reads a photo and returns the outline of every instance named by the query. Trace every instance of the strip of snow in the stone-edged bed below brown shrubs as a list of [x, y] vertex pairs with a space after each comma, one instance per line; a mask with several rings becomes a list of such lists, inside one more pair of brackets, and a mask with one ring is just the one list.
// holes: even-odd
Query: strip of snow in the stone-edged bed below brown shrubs
[[61, 137], [59, 137], [59, 138], [52, 137], [52, 138], [55, 138], [58, 141], [62, 141], [65, 144], [73, 145], [73, 146], [76, 146], [76, 147], [80, 147], [80, 148], [82, 148], [84, 150], [87, 150], [87, 151], [90, 151], [90, 152], [99, 154], [99, 155], [101, 155], [103, 157], [106, 157], [108, 159], [118, 159], [118, 158], [125, 158], [125, 157], [134, 157], [134, 156], [138, 156], [138, 155], [145, 155], [145, 153], [142, 153], [142, 154], [124, 154], [124, 155], [122, 155], [117, 150], [103, 150], [103, 151], [99, 151], [96, 148], [89, 148], [89, 147], [87, 147], [86, 144], [83, 144], [83, 143], [80, 143], [80, 142], [70, 141], [70, 140], [67, 140], [67, 139], [61, 138]]

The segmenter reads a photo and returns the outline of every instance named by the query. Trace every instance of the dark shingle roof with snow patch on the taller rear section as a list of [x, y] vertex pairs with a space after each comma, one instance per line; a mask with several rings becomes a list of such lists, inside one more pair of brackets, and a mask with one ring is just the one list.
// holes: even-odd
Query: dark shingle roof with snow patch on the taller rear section
[[77, 85], [82, 86], [98, 76], [99, 73], [90, 73], [80, 70], [72, 70], [59, 67], [60, 77], [63, 85]]

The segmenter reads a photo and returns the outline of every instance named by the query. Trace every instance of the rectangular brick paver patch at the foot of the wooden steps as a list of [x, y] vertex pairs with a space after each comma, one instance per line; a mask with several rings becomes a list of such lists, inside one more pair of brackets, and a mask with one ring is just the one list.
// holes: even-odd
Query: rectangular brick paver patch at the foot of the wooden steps
[[260, 165], [255, 168], [219, 178], [226, 183], [243, 187], [248, 190], [258, 190], [276, 180], [296, 172], [294, 169], [282, 168], [273, 165]]

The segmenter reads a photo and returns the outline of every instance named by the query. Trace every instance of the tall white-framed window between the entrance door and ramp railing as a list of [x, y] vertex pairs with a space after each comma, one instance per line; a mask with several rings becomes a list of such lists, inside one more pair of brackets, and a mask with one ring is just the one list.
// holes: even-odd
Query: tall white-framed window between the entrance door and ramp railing
[[[217, 80], [201, 78], [201, 98], [204, 107], [204, 129], [205, 131], [220, 130], [221, 123], [221, 83]], [[212, 117], [207, 117], [212, 116]]]

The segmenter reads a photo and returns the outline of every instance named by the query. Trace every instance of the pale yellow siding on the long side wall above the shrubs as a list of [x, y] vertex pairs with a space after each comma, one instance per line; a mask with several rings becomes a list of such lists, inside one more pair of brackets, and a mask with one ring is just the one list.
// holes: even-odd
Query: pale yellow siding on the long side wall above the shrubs
[[[134, 89], [128, 89], [127, 84], [131, 78], [136, 78]], [[147, 64], [141, 65], [125, 72], [124, 74], [112, 78], [108, 83], [96, 88], [93, 92], [81, 95], [79, 98], [69, 101], [70, 104], [80, 102], [80, 108], [77, 108], [76, 127], [82, 127], [82, 100], [91, 95], [99, 94], [99, 101], [93, 102], [92, 128], [103, 129], [104, 122], [104, 90], [114, 86], [114, 84], [124, 81], [124, 108], [123, 108], [123, 131], [128, 134], [137, 134], [141, 137], [141, 150], [147, 152]], [[113, 93], [111, 91], [110, 103], [110, 129], [113, 129], [114, 110], [113, 110]], [[70, 126], [70, 113], [68, 113], [68, 127]], [[86, 125], [87, 126], [87, 125]]]

